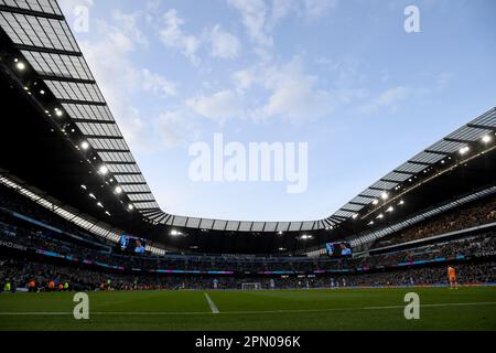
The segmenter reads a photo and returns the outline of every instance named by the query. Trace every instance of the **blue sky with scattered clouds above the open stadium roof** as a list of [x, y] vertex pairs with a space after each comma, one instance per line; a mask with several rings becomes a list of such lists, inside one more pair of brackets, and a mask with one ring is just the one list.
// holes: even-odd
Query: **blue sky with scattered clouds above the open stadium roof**
[[[492, 0], [61, 0], [165, 212], [326, 217], [495, 106]], [[420, 33], [403, 10], [420, 9]], [[308, 142], [309, 188], [195, 183], [195, 141]]]

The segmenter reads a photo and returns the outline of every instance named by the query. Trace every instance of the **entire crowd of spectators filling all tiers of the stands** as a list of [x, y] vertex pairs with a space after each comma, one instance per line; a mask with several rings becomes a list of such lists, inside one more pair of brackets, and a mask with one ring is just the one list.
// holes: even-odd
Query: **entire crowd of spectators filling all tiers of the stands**
[[[158, 274], [158, 269], [201, 272], [233, 271], [233, 276], [215, 278], [219, 288], [239, 288], [247, 279], [260, 282], [266, 288], [270, 287], [271, 280], [276, 281], [278, 288], [327, 287], [331, 284], [335, 286], [339, 284], [349, 286], [436, 284], [443, 281], [444, 268], [427, 266], [418, 268], [413, 265], [418, 265], [418, 261], [425, 264], [432, 263], [430, 260], [434, 263], [453, 259], [471, 260], [471, 258], [481, 257], [486, 257], [484, 265], [468, 265], [468, 263], [460, 265], [463, 278], [466, 281], [494, 280], [494, 264], [490, 263], [496, 253], [494, 231], [387, 254], [371, 256], [364, 254], [362, 257], [341, 259], [226, 255], [153, 256], [147, 254], [141, 256], [115, 253], [108, 246], [95, 247], [93, 240], [100, 242], [101, 239], [86, 234], [76, 225], [33, 202], [26, 202], [15, 192], [4, 190], [4, 186], [0, 188], [2, 189], [0, 192], [0, 240], [6, 244], [20, 245], [31, 249], [31, 253], [34, 253], [32, 252], [34, 249], [43, 249], [66, 258], [65, 261], [54, 265], [44, 261], [41, 257], [23, 258], [23, 256], [17, 257], [12, 254], [10, 256], [0, 255], [3, 256], [0, 257], [0, 282], [9, 284], [9, 289], [32, 282], [36, 284], [39, 290], [46, 289], [47, 284], [52, 282], [57, 286], [67, 284], [68, 288], [63, 286], [63, 290], [200, 289], [213, 286], [213, 276], [165, 276]], [[379, 245], [409, 242], [493, 222], [496, 220], [495, 206], [496, 197], [493, 197], [470, 207], [452, 211], [433, 221], [401, 231], [395, 237], [380, 240]], [[6, 208], [31, 216], [39, 222], [45, 222], [50, 226], [60, 227], [64, 232], [54, 232], [50, 227], [17, 221], [11, 214], [4, 212]], [[68, 233], [76, 234], [88, 242], [77, 240]], [[2, 253], [0, 252], [0, 254]], [[93, 265], [89, 266], [83, 260], [90, 261]], [[118, 267], [120, 271], [110, 272], [106, 268], [96, 268], [95, 263]], [[140, 269], [140, 271], [132, 272], [131, 269]], [[260, 276], [267, 271], [282, 271], [281, 275], [291, 276], [277, 278], [267, 274]]]

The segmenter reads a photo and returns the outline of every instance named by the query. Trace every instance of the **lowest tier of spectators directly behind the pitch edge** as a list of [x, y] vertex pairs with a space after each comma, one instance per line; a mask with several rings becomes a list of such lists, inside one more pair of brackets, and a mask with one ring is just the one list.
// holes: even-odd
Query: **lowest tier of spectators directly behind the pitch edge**
[[[496, 282], [496, 263], [454, 265], [460, 284]], [[258, 282], [263, 289], [298, 289], [298, 288], [338, 288], [359, 286], [427, 286], [445, 285], [446, 267], [405, 268], [392, 271], [367, 272], [355, 275], [325, 276], [170, 276], [143, 274], [139, 276], [110, 274], [28, 261], [23, 259], [0, 257], [0, 282], [2, 288], [9, 284], [12, 290], [28, 288], [35, 284], [35, 291], [47, 291], [50, 282], [55, 288], [68, 284], [61, 290], [186, 290], [186, 289], [242, 289], [242, 284]]]

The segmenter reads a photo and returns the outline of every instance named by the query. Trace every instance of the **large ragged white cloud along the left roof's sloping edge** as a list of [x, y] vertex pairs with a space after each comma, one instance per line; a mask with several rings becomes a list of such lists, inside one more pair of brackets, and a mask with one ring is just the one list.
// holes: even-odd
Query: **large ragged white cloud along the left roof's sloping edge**
[[144, 35], [130, 35], [128, 24], [138, 29], [137, 21], [145, 13], [116, 14], [111, 22], [95, 22], [97, 41], [80, 42], [82, 51], [94, 73], [112, 115], [121, 128], [126, 141], [133, 151], [151, 151], [158, 148], [160, 139], [147, 116], [133, 104], [141, 92], [159, 98], [176, 95], [175, 85], [158, 73], [141, 67], [132, 54], [148, 45]]

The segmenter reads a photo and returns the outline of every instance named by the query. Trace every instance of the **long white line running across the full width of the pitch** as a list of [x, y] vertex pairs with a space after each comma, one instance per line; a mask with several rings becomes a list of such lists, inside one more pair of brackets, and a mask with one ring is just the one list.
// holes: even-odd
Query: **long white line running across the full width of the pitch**
[[[208, 297], [205, 293], [205, 297]], [[207, 298], [208, 301], [208, 298]], [[211, 299], [212, 301], [212, 299]], [[212, 303], [214, 303], [212, 301]], [[465, 306], [495, 306], [496, 301], [481, 301], [481, 302], [452, 302], [438, 304], [420, 304], [421, 308], [436, 308], [436, 307], [465, 307]], [[215, 303], [214, 303], [215, 307]], [[212, 308], [212, 306], [211, 306]], [[95, 311], [90, 315], [209, 315], [212, 313], [219, 314], [258, 314], [258, 313], [298, 313], [298, 312], [328, 312], [328, 311], [362, 311], [362, 310], [387, 310], [387, 309], [402, 309], [405, 306], [389, 306], [389, 307], [363, 307], [363, 308], [332, 308], [332, 309], [288, 309], [288, 310], [252, 310], [252, 311], [218, 311], [217, 307], [212, 308], [212, 312], [205, 311]], [[217, 310], [215, 312], [214, 310]], [[0, 317], [44, 317], [44, 315], [72, 315], [72, 312], [55, 312], [55, 311], [39, 311], [39, 312], [0, 312]]]

